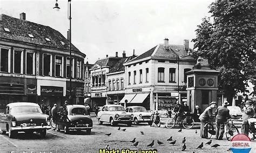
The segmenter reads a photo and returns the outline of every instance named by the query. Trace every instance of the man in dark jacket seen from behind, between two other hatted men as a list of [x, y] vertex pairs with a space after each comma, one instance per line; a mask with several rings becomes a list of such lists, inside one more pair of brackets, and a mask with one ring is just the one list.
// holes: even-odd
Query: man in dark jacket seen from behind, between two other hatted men
[[227, 119], [230, 119], [230, 110], [227, 109], [227, 106], [230, 105], [227, 101], [224, 101], [222, 106], [219, 106], [215, 111], [216, 115], [216, 139], [223, 140], [224, 127]]

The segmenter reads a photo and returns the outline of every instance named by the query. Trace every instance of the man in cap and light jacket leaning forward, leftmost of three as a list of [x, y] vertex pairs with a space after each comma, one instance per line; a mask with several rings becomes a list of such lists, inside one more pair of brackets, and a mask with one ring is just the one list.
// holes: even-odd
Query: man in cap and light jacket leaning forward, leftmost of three
[[206, 123], [214, 117], [212, 111], [213, 108], [217, 107], [217, 103], [215, 101], [212, 101], [210, 103], [210, 106], [208, 106], [205, 111], [199, 116], [199, 119], [201, 121], [201, 129], [200, 129], [200, 136], [201, 138], [207, 138], [208, 137], [208, 128], [205, 127]]

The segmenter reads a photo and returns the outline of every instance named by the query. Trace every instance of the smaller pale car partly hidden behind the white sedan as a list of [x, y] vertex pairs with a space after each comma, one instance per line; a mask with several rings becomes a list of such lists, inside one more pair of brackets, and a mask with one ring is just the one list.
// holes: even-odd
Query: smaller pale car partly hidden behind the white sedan
[[145, 107], [142, 106], [129, 106], [125, 108], [125, 112], [133, 114], [132, 121], [138, 125], [142, 122], [147, 122], [152, 125], [152, 113], [147, 112]]

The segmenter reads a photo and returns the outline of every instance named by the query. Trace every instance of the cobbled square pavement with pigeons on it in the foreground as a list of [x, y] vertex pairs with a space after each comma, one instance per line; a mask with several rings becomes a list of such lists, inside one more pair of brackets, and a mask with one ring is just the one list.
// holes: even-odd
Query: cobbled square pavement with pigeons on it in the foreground
[[[183, 129], [181, 133], [178, 133], [178, 129], [166, 129], [158, 127], [150, 127], [147, 124], [127, 127], [126, 125], [120, 125], [118, 127], [111, 127], [109, 123], [98, 125], [95, 117], [93, 119], [93, 129], [91, 135], [86, 135], [86, 132], [71, 132], [66, 135], [62, 132], [56, 132], [48, 130], [48, 134], [42, 139], [39, 134], [25, 135], [25, 133], [19, 133], [16, 139], [9, 139], [8, 134], [0, 135], [0, 152], [99, 152], [99, 149], [104, 149], [109, 144], [110, 149], [130, 149], [130, 150], [149, 150], [157, 149], [158, 152], [181, 152], [182, 140], [186, 136], [186, 152], [228, 152], [230, 148], [230, 142], [225, 137], [224, 140], [217, 141], [212, 139], [212, 145], [215, 143], [220, 144], [218, 148], [211, 148], [211, 145], [204, 145], [203, 149], [196, 149], [201, 142], [208, 142], [209, 140], [201, 139], [199, 129], [198, 133], [195, 133], [195, 129]], [[140, 131], [144, 132], [144, 135], [140, 134]], [[111, 133], [110, 136], [105, 134]], [[173, 140], [177, 140], [175, 145], [169, 144], [166, 141], [170, 136]], [[130, 142], [136, 138], [138, 146], [134, 147]], [[146, 147], [152, 141], [154, 145], [152, 148]], [[164, 142], [162, 145], [157, 144], [157, 140]], [[256, 142], [253, 142], [253, 148], [251, 152], [255, 150]], [[231, 152], [231, 151], [230, 151]], [[128, 152], [127, 152], [128, 153]], [[131, 152], [130, 152], [131, 153]]]

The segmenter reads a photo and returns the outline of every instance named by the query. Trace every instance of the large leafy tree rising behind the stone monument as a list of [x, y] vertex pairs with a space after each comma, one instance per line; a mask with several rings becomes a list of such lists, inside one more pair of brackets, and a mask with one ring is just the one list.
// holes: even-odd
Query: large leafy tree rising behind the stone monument
[[231, 103], [237, 92], [245, 92], [255, 69], [255, 3], [215, 2], [211, 17], [198, 25], [193, 53], [208, 59], [210, 67], [220, 71], [219, 88]]

